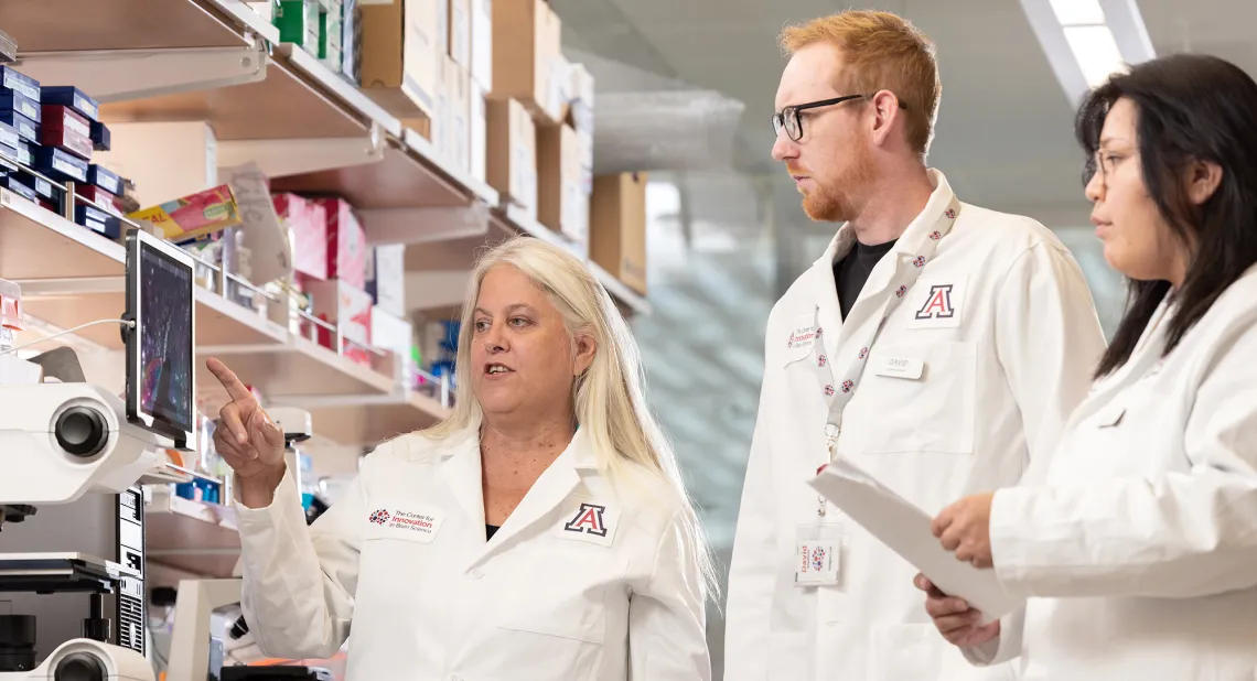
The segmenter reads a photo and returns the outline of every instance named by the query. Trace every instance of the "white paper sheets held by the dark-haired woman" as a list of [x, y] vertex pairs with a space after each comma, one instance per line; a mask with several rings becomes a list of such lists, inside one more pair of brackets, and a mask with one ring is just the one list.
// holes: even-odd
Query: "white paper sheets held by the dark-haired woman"
[[962, 563], [930, 531], [931, 518], [850, 461], [838, 459], [810, 485], [852, 520], [908, 560], [944, 593], [982, 611], [983, 623], [1021, 606], [1008, 596], [993, 569]]

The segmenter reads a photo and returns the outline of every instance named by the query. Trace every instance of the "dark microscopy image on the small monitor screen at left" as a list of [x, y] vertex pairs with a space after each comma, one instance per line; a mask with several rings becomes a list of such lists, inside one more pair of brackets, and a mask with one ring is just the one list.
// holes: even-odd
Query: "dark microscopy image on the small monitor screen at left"
[[140, 258], [140, 408], [192, 430], [192, 270], [145, 244]]

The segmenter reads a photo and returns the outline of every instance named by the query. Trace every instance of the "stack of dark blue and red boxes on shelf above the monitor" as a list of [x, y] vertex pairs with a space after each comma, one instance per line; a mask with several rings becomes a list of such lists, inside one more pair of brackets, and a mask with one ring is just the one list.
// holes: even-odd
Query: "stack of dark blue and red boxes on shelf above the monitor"
[[[87, 202], [75, 202], [74, 221], [119, 239], [122, 180], [93, 163], [107, 151], [109, 129], [99, 121], [94, 99], [73, 87], [41, 87], [11, 67], [0, 67], [0, 155], [57, 182], [74, 182]], [[10, 171], [0, 186], [60, 212], [62, 187], [28, 172]]]

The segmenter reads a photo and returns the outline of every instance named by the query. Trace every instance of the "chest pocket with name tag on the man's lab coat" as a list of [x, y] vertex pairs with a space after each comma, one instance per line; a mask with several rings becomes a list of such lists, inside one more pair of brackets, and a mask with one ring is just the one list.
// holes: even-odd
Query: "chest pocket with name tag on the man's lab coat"
[[[897, 367], [910, 366], [910, 372]], [[972, 454], [978, 347], [973, 342], [879, 343], [843, 413], [852, 454]]]

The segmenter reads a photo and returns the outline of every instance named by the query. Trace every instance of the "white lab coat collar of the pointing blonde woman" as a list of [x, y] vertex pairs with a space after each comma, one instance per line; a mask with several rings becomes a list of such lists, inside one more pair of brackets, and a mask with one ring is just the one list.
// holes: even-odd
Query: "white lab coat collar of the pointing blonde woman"
[[[480, 467], [480, 423], [476, 422], [440, 444], [439, 455], [442, 477], [458, 504], [473, 525], [483, 525], [485, 520]], [[537, 479], [524, 500], [507, 518], [507, 521], [494, 534], [493, 540], [486, 544], [476, 563], [509, 544], [519, 533], [544, 518], [577, 489], [583, 475], [598, 469], [601, 465], [586, 430], [577, 428], [572, 441]]]

